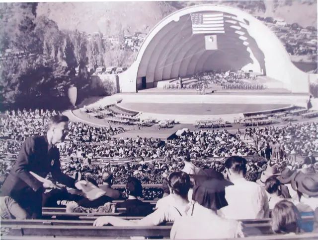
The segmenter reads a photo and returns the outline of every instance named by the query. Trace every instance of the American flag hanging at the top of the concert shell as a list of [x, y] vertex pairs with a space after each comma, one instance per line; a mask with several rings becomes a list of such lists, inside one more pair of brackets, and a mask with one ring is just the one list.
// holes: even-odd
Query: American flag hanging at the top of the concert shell
[[192, 34], [225, 33], [223, 13], [191, 13]]

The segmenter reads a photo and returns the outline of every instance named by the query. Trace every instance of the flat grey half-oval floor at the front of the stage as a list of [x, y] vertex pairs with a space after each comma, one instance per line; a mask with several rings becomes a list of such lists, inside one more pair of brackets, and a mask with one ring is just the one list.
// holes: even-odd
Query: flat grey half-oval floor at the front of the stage
[[127, 103], [118, 106], [138, 112], [176, 115], [222, 115], [259, 112], [289, 107], [286, 104], [182, 104], [182, 103]]

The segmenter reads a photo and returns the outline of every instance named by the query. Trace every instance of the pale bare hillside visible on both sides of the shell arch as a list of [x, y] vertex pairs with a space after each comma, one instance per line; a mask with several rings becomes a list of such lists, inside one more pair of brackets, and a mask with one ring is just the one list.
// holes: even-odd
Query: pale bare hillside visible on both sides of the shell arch
[[315, 0], [41, 2], [37, 14], [49, 17], [66, 30], [117, 34], [122, 29], [133, 33], [148, 32], [175, 10], [202, 3], [231, 5], [255, 16], [280, 17], [287, 23], [317, 27]]

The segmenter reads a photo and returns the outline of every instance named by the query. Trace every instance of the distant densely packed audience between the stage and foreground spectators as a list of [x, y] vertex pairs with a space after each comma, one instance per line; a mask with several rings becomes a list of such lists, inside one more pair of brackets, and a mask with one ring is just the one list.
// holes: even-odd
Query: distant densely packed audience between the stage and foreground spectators
[[[33, 121], [25, 120], [28, 119], [28, 113]], [[54, 114], [56, 113], [43, 110], [7, 112], [7, 118], [0, 119], [3, 123], [0, 129], [4, 137], [0, 140], [0, 154], [13, 154], [12, 158], [16, 157], [22, 142], [6, 138], [17, 133], [22, 140], [30, 134], [27, 129], [32, 129], [32, 126], [36, 129], [35, 133], [44, 132], [46, 118]], [[122, 128], [97, 128], [85, 123], [70, 122], [65, 141], [58, 145], [64, 160], [63, 171], [72, 177], [80, 175], [84, 178], [87, 174], [91, 175], [98, 183], [101, 183], [99, 177], [106, 170], [114, 175], [115, 183], [124, 183], [125, 176], [138, 176], [142, 183], [160, 183], [167, 172], [182, 169], [184, 156], [189, 156], [198, 168], [220, 170], [217, 168], [222, 164], [209, 158], [224, 160], [237, 155], [253, 156], [248, 161], [246, 177], [248, 180], [256, 180], [262, 171], [260, 163], [264, 164], [259, 158], [291, 163], [293, 154], [308, 156], [318, 152], [317, 122], [245, 128], [244, 132], [238, 130], [237, 134], [231, 134], [225, 129], [187, 131], [166, 143], [161, 139], [139, 136], [136, 139], [112, 138], [112, 135], [122, 131]], [[243, 138], [252, 139], [253, 144], [247, 144]], [[121, 158], [142, 160], [126, 165], [100, 164]], [[11, 165], [11, 162], [2, 164], [1, 174], [8, 174]]]

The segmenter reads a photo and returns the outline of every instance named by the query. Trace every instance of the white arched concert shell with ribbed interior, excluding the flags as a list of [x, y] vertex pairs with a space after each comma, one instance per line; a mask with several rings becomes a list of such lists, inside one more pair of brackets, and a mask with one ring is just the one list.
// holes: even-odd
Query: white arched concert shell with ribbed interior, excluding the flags
[[[205, 34], [192, 35], [191, 13], [223, 13], [225, 33], [216, 34], [218, 50], [205, 49]], [[309, 92], [309, 74], [292, 63], [265, 24], [238, 8], [214, 4], [183, 8], [162, 19], [145, 38], [133, 64], [119, 74], [120, 91], [137, 92], [202, 71], [239, 69], [278, 80], [293, 93]]]

